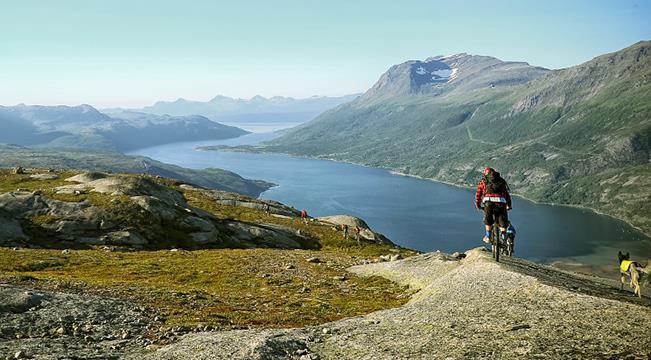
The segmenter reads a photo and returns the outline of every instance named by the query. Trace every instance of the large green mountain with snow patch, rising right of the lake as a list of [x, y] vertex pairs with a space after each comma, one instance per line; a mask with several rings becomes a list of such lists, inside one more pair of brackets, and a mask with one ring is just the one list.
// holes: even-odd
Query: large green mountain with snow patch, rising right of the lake
[[517, 193], [651, 234], [650, 51], [640, 42], [555, 71], [465, 54], [407, 62], [264, 149], [465, 186], [493, 166]]

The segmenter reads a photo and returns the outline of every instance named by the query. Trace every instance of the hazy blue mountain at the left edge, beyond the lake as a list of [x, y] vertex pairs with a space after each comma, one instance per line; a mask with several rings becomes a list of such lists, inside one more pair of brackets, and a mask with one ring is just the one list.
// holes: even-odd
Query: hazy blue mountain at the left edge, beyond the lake
[[0, 143], [18, 145], [124, 151], [246, 133], [203, 116], [121, 112], [111, 117], [90, 105], [0, 106]]

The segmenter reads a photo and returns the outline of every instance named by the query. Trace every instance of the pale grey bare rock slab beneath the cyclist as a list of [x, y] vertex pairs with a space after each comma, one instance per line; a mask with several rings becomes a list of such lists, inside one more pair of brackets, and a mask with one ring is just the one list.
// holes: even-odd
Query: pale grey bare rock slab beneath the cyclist
[[645, 358], [651, 349], [651, 301], [607, 280], [515, 258], [495, 263], [480, 249], [350, 271], [417, 292], [400, 308], [317, 327], [187, 335], [145, 358], [595, 359]]

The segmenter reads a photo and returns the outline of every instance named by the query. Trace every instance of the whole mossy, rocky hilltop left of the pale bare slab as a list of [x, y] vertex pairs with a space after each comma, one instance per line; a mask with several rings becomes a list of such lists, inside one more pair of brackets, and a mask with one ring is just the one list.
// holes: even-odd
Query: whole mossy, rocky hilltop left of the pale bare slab
[[0, 169], [0, 354], [118, 359], [188, 332], [356, 316], [406, 295], [344, 269], [413, 254], [352, 216], [304, 223], [160, 176]]

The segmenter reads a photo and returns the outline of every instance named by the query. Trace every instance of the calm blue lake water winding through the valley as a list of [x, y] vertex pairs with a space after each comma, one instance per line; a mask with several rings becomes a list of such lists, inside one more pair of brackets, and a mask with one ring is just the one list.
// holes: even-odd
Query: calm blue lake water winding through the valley
[[[197, 151], [200, 145], [251, 145], [272, 133], [237, 139], [166, 144], [130, 154], [193, 169], [218, 167], [278, 184], [260, 197], [306, 209], [311, 216], [350, 214], [395, 243], [422, 251], [465, 251], [481, 246], [482, 214], [474, 190], [389, 171], [281, 154]], [[507, 179], [508, 180], [508, 179]], [[651, 241], [626, 223], [592, 211], [515, 198], [509, 216], [518, 231], [516, 255], [617, 266], [617, 251], [644, 260]]]

